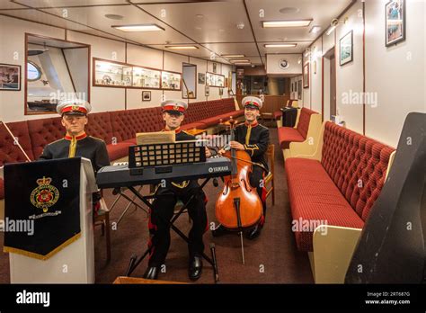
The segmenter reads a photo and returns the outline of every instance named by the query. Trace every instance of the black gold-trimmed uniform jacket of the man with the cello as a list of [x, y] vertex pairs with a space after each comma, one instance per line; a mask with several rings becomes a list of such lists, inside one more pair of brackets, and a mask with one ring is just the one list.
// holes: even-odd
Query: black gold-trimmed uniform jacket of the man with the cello
[[265, 153], [270, 143], [270, 130], [257, 121], [253, 125], [245, 122], [235, 127], [234, 136], [235, 141], [244, 145], [245, 152], [252, 157], [252, 161], [262, 164], [268, 171]]

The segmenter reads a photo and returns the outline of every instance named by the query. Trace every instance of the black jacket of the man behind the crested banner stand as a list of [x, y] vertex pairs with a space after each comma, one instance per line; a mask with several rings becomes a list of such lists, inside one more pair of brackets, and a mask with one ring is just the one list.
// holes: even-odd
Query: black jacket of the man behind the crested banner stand
[[59, 139], [47, 145], [40, 159], [82, 156], [91, 160], [95, 174], [102, 166], [110, 165], [108, 151], [102, 139], [83, 134], [75, 137], [75, 148], [73, 147], [73, 138], [66, 136], [64, 139]]

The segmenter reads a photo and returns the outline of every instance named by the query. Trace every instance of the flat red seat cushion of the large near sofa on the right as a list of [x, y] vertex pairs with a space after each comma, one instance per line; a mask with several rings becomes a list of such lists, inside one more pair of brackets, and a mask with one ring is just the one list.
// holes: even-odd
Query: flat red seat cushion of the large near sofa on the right
[[313, 225], [309, 229], [293, 229], [299, 250], [313, 250], [312, 236], [315, 227], [321, 224], [363, 228], [363, 220], [351, 208], [319, 161], [290, 157], [285, 167], [293, 221], [298, 225], [302, 219], [306, 224], [309, 221]]

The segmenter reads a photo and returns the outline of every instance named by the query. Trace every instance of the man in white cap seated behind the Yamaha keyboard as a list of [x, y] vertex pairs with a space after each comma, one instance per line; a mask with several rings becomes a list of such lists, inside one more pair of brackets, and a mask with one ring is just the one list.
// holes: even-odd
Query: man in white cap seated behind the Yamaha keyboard
[[[174, 130], [176, 141], [194, 140], [195, 137], [181, 130], [181, 123], [188, 104], [180, 100], [166, 100], [161, 103], [163, 108], [164, 130]], [[206, 156], [210, 156], [206, 148]], [[188, 275], [192, 281], [198, 280], [202, 271], [201, 254], [204, 251], [203, 234], [208, 228], [206, 214], [206, 196], [200, 191], [200, 184], [196, 181], [166, 182], [165, 186], [159, 185], [156, 195], [162, 195], [153, 202], [150, 211], [148, 228], [151, 235], [148, 246], [150, 248], [148, 267], [144, 278], [157, 279], [162, 264], [170, 246], [170, 227], [167, 220], [173, 218], [174, 206], [178, 200], [188, 201], [194, 194], [195, 197], [188, 205], [188, 214], [192, 219], [192, 228], [189, 233], [189, 267]]]

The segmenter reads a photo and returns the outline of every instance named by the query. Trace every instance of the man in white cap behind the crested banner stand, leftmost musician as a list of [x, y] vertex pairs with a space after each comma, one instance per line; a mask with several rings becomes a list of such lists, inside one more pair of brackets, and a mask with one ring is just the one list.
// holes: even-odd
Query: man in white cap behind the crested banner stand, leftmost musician
[[65, 127], [66, 135], [49, 143], [40, 159], [52, 159], [63, 157], [83, 156], [92, 161], [93, 172], [106, 165], [110, 165], [108, 151], [105, 142], [87, 136], [84, 131], [88, 123], [87, 114], [92, 110], [90, 103], [84, 100], [68, 100], [58, 104], [57, 112], [62, 117], [62, 125]]

